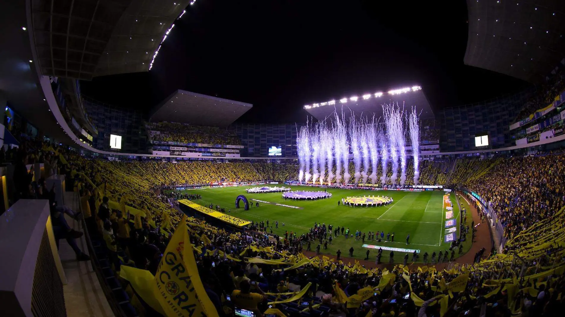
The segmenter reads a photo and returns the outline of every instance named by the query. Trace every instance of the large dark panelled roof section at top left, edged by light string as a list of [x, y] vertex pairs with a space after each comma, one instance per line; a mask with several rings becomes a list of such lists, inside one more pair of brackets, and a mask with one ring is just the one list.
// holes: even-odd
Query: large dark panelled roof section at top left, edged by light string
[[91, 80], [147, 72], [190, 0], [33, 0], [41, 72]]

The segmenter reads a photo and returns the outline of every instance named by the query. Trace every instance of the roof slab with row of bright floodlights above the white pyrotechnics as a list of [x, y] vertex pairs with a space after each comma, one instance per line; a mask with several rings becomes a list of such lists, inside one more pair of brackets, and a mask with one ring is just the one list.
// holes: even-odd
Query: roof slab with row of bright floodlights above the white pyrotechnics
[[420, 117], [423, 119], [432, 118], [432, 108], [425, 98], [420, 86], [406, 87], [403, 89], [394, 89], [384, 92], [377, 92], [372, 94], [362, 94], [355, 96], [348, 96], [344, 98], [331, 99], [325, 102], [311, 103], [305, 105], [304, 108], [310, 115], [318, 120], [333, 116], [334, 111], [341, 112], [342, 109], [345, 115], [354, 112], [355, 116], [371, 118], [375, 115], [377, 118], [383, 116], [384, 103], [398, 102], [399, 105], [404, 104], [405, 107], [416, 106], [418, 111], [421, 111]]

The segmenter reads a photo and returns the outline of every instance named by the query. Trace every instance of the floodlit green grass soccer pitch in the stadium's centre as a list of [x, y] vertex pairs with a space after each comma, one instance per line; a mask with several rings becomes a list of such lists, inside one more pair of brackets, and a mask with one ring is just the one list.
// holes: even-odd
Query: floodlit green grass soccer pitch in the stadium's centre
[[[285, 200], [282, 193], [252, 193], [248, 194], [246, 187], [225, 187], [225, 188], [205, 188], [200, 190], [188, 190], [188, 193], [197, 193], [202, 196], [201, 200], [195, 200], [197, 204], [208, 206], [210, 204], [220, 205], [225, 208], [226, 212], [231, 209], [231, 215], [246, 219], [249, 221], [260, 222], [269, 220], [269, 226], [273, 228], [273, 234], [284, 237], [285, 231], [290, 233], [297, 232], [297, 236], [306, 233], [314, 226], [315, 222], [332, 224], [334, 228], [337, 226], [349, 228], [350, 235], [356, 230], [360, 230], [367, 234], [368, 231], [384, 231], [386, 234], [394, 232], [394, 242], [392, 241], [368, 241], [365, 244], [388, 246], [403, 249], [420, 250], [421, 256], [416, 262], [423, 262], [424, 252], [429, 253], [428, 262], [431, 259], [432, 252], [439, 253], [440, 250], [445, 252], [449, 249], [450, 243], [444, 243], [445, 231], [445, 210], [443, 209], [442, 191], [423, 191], [423, 192], [403, 192], [403, 191], [366, 191], [366, 190], [342, 190], [337, 188], [328, 188], [328, 192], [332, 193], [329, 199], [321, 200]], [[294, 191], [316, 191], [320, 188], [308, 186], [290, 186]], [[259, 202], [259, 207], [253, 207], [249, 210], [243, 208], [235, 208], [235, 200], [238, 195], [245, 195], [251, 202], [253, 199], [269, 202]], [[337, 205], [337, 202], [347, 196], [389, 196], [394, 202], [390, 205], [378, 207], [350, 207]], [[455, 200], [455, 193], [450, 195], [453, 202], [453, 213], [455, 218], [459, 215], [459, 206]], [[464, 200], [461, 201], [462, 205]], [[281, 205], [296, 206], [290, 208]], [[242, 206], [242, 204], [240, 204]], [[468, 208], [467, 208], [468, 209]], [[472, 217], [468, 217], [471, 222]], [[275, 221], [279, 221], [279, 228], [275, 228]], [[283, 225], [284, 223], [284, 225]], [[459, 220], [457, 221], [458, 231], [456, 237], [459, 236]], [[270, 230], [268, 230], [270, 232]], [[409, 244], [406, 244], [406, 236], [410, 234]], [[329, 237], [329, 236], [328, 236]], [[470, 239], [468, 239], [470, 240]], [[349, 248], [353, 246], [355, 258], [364, 259], [366, 257], [367, 248], [363, 248], [362, 240], [355, 240], [354, 237], [345, 239], [345, 236], [337, 236], [333, 239], [333, 244], [328, 244], [328, 249], [320, 250], [322, 254], [336, 254], [340, 249], [342, 257], [349, 257]], [[318, 242], [312, 241], [311, 248], [315, 250]], [[470, 248], [471, 243], [467, 241], [464, 244], [464, 252]], [[306, 246], [303, 246], [306, 250]], [[377, 248], [378, 249], [378, 248]], [[388, 262], [388, 250], [383, 250], [381, 262]], [[377, 250], [370, 249], [370, 260], [375, 261]], [[394, 252], [394, 262], [402, 262], [406, 253]], [[459, 254], [456, 254], [456, 257]], [[410, 254], [408, 263], [411, 263], [412, 256]]]

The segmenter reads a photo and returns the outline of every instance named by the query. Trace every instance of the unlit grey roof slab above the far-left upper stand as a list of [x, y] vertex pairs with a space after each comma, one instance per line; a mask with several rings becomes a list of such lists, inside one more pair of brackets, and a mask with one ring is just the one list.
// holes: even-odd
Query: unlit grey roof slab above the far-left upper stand
[[151, 111], [149, 120], [227, 127], [251, 108], [249, 103], [177, 90]]

